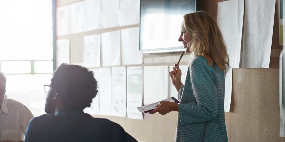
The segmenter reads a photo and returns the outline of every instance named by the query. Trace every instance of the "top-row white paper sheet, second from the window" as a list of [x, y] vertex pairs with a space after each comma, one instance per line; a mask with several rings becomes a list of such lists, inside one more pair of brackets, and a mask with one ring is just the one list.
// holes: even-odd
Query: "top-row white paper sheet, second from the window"
[[76, 34], [84, 31], [84, 2], [70, 4], [70, 32]]

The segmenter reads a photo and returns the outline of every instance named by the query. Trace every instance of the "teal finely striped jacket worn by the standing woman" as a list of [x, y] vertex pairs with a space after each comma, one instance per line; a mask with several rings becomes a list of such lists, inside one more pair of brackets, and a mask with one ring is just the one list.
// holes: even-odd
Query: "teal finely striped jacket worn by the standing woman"
[[225, 77], [207, 59], [191, 60], [184, 85], [178, 92], [177, 142], [227, 142], [224, 97]]

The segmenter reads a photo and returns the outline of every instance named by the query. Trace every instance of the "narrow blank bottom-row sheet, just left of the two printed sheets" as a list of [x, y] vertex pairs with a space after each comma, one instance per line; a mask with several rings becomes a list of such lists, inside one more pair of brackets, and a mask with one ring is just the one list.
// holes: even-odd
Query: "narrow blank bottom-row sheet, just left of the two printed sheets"
[[112, 116], [112, 73], [111, 68], [99, 68], [99, 114]]

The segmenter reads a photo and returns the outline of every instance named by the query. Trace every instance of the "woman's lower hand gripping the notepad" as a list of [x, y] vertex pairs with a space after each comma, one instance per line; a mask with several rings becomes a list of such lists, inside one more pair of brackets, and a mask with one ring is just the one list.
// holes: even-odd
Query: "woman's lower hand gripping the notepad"
[[149, 112], [150, 114], [154, 114], [158, 112], [159, 114], [167, 114], [171, 111], [178, 111], [178, 104], [170, 101], [161, 101], [155, 105], [156, 109]]

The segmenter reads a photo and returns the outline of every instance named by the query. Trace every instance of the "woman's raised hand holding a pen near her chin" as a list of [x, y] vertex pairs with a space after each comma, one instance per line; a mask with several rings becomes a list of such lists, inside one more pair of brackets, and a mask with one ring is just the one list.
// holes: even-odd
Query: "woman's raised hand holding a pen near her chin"
[[183, 85], [181, 82], [181, 70], [179, 68], [179, 64], [174, 64], [172, 71], [168, 73], [170, 76], [170, 80], [172, 84], [175, 86], [176, 90], [180, 90], [180, 86]]

